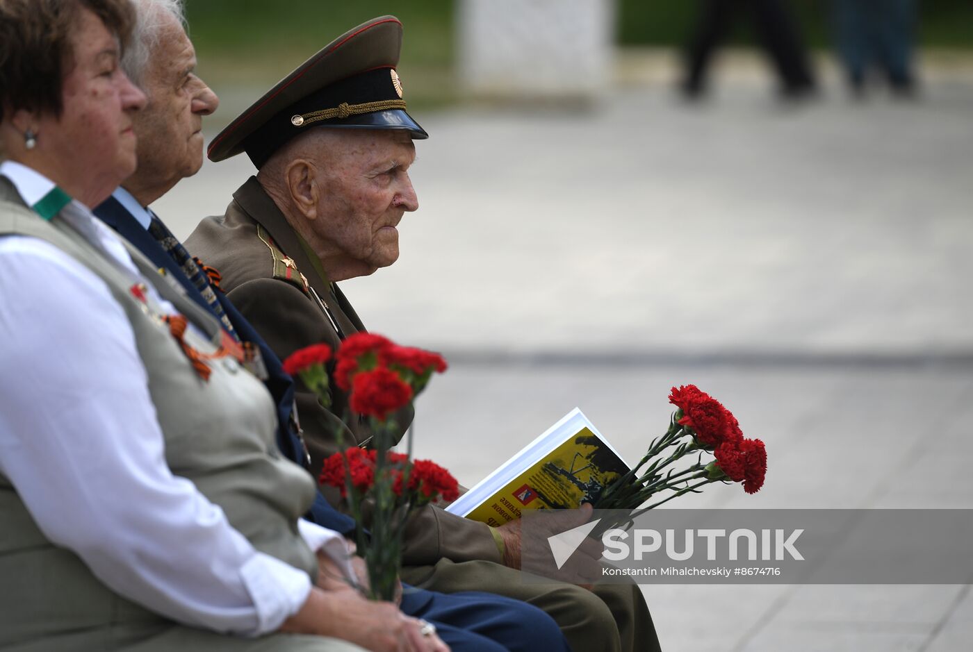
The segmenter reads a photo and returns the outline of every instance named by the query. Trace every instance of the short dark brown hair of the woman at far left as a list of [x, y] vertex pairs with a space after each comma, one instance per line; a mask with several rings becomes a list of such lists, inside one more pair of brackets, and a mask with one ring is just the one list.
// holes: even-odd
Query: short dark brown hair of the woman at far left
[[125, 47], [135, 19], [130, 0], [0, 0], [0, 120], [19, 109], [60, 117], [82, 9]]

